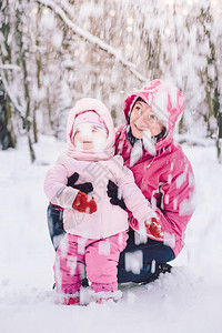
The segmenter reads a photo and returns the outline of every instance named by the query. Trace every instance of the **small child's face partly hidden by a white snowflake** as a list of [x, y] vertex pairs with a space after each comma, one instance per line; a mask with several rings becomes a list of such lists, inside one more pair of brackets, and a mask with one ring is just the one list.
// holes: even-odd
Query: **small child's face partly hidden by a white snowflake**
[[81, 150], [101, 149], [104, 147], [105, 140], [107, 133], [103, 130], [83, 123], [74, 134], [73, 144]]

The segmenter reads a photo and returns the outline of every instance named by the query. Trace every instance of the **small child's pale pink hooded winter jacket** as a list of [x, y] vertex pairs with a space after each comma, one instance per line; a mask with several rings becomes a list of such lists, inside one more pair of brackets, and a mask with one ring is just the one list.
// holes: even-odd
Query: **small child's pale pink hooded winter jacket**
[[[104, 121], [109, 135], [105, 149], [101, 151], [80, 151], [71, 142], [71, 133], [77, 115], [83, 111], [94, 110]], [[120, 189], [125, 205], [138, 221], [153, 215], [148, 200], [134, 183], [132, 172], [123, 165], [123, 159], [114, 154], [114, 128], [108, 109], [94, 99], [77, 102], [68, 119], [67, 139], [69, 150], [61, 155], [54, 168], [47, 173], [44, 191], [48, 199], [64, 209], [63, 226], [69, 233], [88, 239], [102, 239], [129, 229], [128, 213], [110, 203], [107, 194], [109, 180]], [[80, 213], [72, 209], [78, 190], [67, 186], [68, 178], [79, 173], [77, 184], [91, 182], [93, 198], [98, 210], [93, 214]]]

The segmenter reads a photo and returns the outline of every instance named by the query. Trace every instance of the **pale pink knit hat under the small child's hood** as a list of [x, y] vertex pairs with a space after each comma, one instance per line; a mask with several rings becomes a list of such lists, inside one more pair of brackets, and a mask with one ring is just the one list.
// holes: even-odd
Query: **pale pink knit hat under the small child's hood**
[[108, 129], [102, 118], [95, 111], [90, 110], [75, 117], [73, 128], [70, 133], [71, 139], [74, 138], [78, 128], [83, 123], [91, 124], [92, 127], [99, 128], [103, 132], [108, 133]]

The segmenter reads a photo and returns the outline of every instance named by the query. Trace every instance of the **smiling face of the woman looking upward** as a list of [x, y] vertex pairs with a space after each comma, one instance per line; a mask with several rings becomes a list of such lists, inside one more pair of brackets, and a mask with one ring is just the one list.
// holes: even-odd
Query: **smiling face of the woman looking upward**
[[155, 137], [163, 130], [163, 124], [152, 112], [152, 108], [142, 101], [135, 102], [134, 107], [132, 108], [130, 125], [132, 134], [137, 139], [142, 139], [144, 131], [149, 130], [151, 137]]

